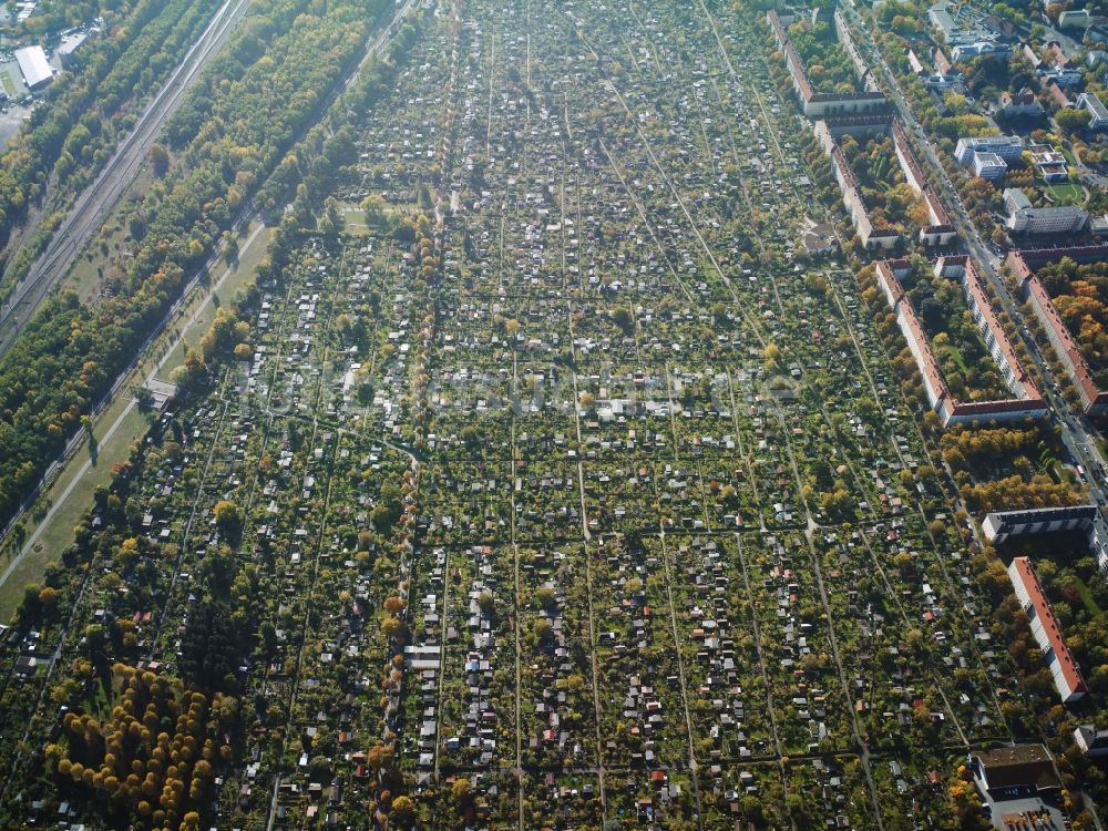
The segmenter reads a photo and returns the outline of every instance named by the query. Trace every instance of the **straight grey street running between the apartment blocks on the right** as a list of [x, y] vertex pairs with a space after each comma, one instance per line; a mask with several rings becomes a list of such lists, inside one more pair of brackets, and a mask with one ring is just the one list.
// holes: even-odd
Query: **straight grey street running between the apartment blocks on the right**
[[[854, 23], [855, 32], [861, 34], [862, 43], [864, 43], [865, 51], [870, 53], [870, 59], [873, 61], [873, 65], [880, 66], [881, 69], [881, 74], [885, 80], [885, 88], [891, 92], [891, 100], [896, 106], [901, 121], [907, 126], [909, 132], [916, 137], [919, 145], [923, 147], [925, 158], [931, 164], [932, 170], [937, 174], [947, 212], [951, 214], [962, 240], [970, 249], [970, 253], [977, 260], [981, 266], [981, 271], [987, 277], [993, 287], [993, 293], [1001, 302], [1001, 308], [1006, 311], [1015, 322], [1018, 337], [1027, 347], [1028, 353], [1032, 356], [1032, 360], [1039, 370], [1040, 376], [1045, 379], [1046, 386], [1042, 390], [1043, 394], [1050, 404], [1055, 420], [1061, 429], [1061, 441], [1065, 444], [1066, 450], [1077, 464], [1080, 464], [1085, 469], [1086, 482], [1089, 486], [1089, 495], [1098, 504], [1104, 504], [1106, 500], [1106, 491], [1102, 483], [1098, 480], [1098, 476], [1100, 476], [1100, 471], [1104, 470], [1105, 460], [1097, 447], [1096, 429], [1091, 425], [1091, 423], [1089, 423], [1088, 419], [1085, 418], [1084, 413], [1075, 414], [1074, 409], [1057, 391], [1057, 386], [1054, 381], [1053, 373], [1047, 366], [1047, 360], [1044, 358], [1038, 343], [1036, 343], [1034, 338], [1030, 337], [1023, 322], [1024, 315], [1019, 309], [1019, 304], [1012, 296], [1008, 287], [997, 274], [997, 269], [1001, 267], [999, 255], [996, 254], [992, 247], [985, 244], [985, 240], [982, 238], [976, 225], [974, 225], [970, 215], [966, 213], [965, 207], [958, 198], [957, 192], [954, 189], [950, 177], [946, 175], [946, 171], [943, 167], [938, 155], [935, 153], [934, 146], [927, 140], [926, 134], [923, 132], [923, 129], [916, 121], [915, 115], [912, 113], [912, 107], [901, 93], [900, 85], [896, 83], [896, 79], [890, 69], [888, 61], [885, 61], [884, 55], [881, 54], [881, 51], [876, 48], [873, 39], [870, 37], [869, 29], [859, 19], [853, 8], [850, 6], [844, 8], [848, 9], [848, 14]], [[1101, 524], [1104, 524], [1102, 519]]]

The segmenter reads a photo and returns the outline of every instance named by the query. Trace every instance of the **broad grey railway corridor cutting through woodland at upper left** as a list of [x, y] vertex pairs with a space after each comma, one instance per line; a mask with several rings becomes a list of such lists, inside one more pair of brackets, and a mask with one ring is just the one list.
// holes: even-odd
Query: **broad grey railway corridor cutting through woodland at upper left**
[[0, 308], [0, 357], [4, 356], [43, 299], [65, 276], [70, 264], [89, 244], [101, 223], [134, 181], [165, 120], [177, 109], [204, 65], [216, 54], [235, 21], [250, 0], [226, 0], [165, 85], [150, 102], [134, 129], [120, 142], [115, 154], [93, 182], [78, 196], [45, 250]]

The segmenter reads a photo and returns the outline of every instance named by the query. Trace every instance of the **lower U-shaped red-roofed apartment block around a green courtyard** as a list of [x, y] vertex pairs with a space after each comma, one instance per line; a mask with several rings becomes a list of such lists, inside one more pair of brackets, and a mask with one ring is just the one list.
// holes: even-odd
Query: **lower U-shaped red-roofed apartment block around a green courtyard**
[[901, 285], [901, 278], [911, 270], [912, 264], [906, 259], [883, 260], [878, 264], [878, 285], [884, 291], [889, 308], [896, 316], [896, 324], [923, 378], [927, 400], [938, 413], [943, 427], [973, 421], [1015, 421], [1045, 417], [1048, 412], [1047, 403], [1016, 357], [981, 284], [977, 269], [965, 256], [940, 257], [935, 263], [934, 274], [936, 277], [956, 279], [961, 285], [966, 306], [973, 314], [982, 339], [996, 361], [1012, 397], [995, 401], [960, 401], [954, 397], [946, 386], [931, 339], [924, 332], [919, 314]]

